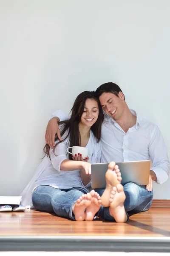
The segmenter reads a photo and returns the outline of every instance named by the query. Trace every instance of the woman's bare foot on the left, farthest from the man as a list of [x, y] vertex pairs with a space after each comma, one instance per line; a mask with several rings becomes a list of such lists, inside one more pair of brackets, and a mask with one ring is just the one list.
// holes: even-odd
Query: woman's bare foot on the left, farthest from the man
[[91, 205], [91, 194], [87, 193], [80, 196], [77, 202], [73, 206], [73, 213], [76, 221], [85, 220], [85, 209]]

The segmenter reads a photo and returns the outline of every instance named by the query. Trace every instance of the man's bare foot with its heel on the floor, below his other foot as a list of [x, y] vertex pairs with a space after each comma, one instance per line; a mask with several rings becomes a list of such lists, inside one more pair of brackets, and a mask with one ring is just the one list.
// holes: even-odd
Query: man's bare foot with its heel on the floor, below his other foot
[[110, 215], [115, 218], [116, 222], [126, 222], [127, 214], [124, 207], [125, 193], [123, 191], [122, 184], [117, 184], [116, 187], [113, 187], [111, 196], [110, 196]]

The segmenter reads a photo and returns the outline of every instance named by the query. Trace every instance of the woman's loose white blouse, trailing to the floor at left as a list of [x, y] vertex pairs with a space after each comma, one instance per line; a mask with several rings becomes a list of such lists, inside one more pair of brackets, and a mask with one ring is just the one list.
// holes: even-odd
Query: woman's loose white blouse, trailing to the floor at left
[[[26, 208], [32, 207], [32, 192], [35, 187], [40, 185], [48, 185], [58, 189], [81, 187], [87, 192], [89, 191], [88, 187], [91, 186], [91, 183], [89, 183], [87, 186], [83, 185], [80, 177], [80, 170], [63, 171], [60, 169], [62, 161], [68, 159], [68, 147], [69, 143], [67, 139], [57, 145], [57, 147], [55, 148], [56, 155], [51, 149], [51, 160], [47, 156], [43, 158], [34, 176], [21, 193], [22, 204], [25, 205]], [[96, 143], [96, 138], [94, 137], [92, 131], [90, 132], [90, 138], [86, 147], [88, 148], [88, 162], [100, 163], [101, 143]]]

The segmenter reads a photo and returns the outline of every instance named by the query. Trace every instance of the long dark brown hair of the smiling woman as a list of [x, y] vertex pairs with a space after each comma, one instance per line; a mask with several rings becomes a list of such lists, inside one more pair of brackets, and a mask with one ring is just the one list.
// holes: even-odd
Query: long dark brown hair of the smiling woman
[[[93, 132], [94, 136], [96, 137], [96, 142], [98, 143], [101, 137], [101, 128], [102, 128], [102, 122], [104, 120], [104, 114], [102, 111], [102, 106], [100, 105], [99, 98], [96, 96], [96, 93], [94, 91], [85, 91], [80, 93], [73, 105], [73, 108], [71, 109], [71, 117], [70, 119], [66, 121], [59, 122], [59, 125], [62, 125], [62, 129], [60, 131], [61, 136], [65, 134], [67, 131], [66, 137], [62, 140], [65, 141], [67, 138], [69, 138], [69, 145], [72, 146], [80, 146], [81, 145], [81, 137], [79, 133], [79, 122], [82, 117], [82, 113], [84, 111], [85, 107], [85, 101], [86, 99], [94, 99], [98, 103], [99, 108], [99, 116], [97, 121], [94, 123], [94, 125], [91, 126], [91, 131]], [[59, 140], [58, 136], [56, 134], [55, 141]], [[53, 149], [53, 152], [55, 154], [55, 147], [61, 143], [59, 141]], [[50, 157], [50, 146], [48, 144], [44, 147], [44, 153]], [[69, 154], [69, 159], [72, 160], [71, 154]]]

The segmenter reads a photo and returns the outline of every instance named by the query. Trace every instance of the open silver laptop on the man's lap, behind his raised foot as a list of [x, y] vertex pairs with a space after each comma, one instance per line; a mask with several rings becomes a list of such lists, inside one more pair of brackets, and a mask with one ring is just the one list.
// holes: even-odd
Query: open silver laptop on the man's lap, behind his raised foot
[[[133, 182], [138, 185], [147, 185], [150, 175], [150, 160], [116, 163], [119, 166], [122, 185]], [[105, 188], [105, 173], [108, 163], [93, 163], [91, 165], [91, 186], [93, 189]]]

